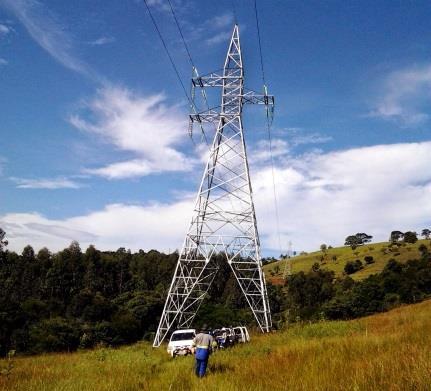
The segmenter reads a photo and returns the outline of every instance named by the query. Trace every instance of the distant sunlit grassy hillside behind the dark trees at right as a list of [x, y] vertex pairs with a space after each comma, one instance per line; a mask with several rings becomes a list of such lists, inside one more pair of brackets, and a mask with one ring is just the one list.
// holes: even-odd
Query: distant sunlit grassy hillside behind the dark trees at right
[[[430, 248], [429, 240], [418, 240], [415, 244], [400, 243], [398, 246], [390, 246], [389, 242], [370, 243], [360, 246], [355, 250], [350, 247], [330, 248], [325, 252], [315, 251], [312, 253], [298, 255], [291, 258], [292, 272], [307, 272], [314, 263], [318, 263], [322, 268], [333, 270], [336, 275], [341, 275], [344, 266], [348, 261], [359, 259], [364, 268], [352, 274], [355, 280], [362, 280], [374, 273], [380, 273], [387, 261], [396, 259], [399, 262], [406, 262], [409, 259], [420, 258], [419, 246], [425, 244]], [[364, 261], [365, 256], [372, 256], [374, 263], [367, 265]], [[264, 266], [266, 278], [274, 283], [280, 281], [286, 267], [286, 260], [280, 260]]]

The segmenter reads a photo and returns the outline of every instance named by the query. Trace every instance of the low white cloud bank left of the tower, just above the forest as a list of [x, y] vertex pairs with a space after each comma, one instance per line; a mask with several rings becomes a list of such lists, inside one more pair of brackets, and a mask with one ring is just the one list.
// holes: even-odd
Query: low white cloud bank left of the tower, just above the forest
[[95, 244], [101, 249], [173, 251], [181, 245], [191, 209], [192, 203], [185, 200], [171, 205], [112, 204], [65, 220], [50, 220], [37, 213], [10, 213], [0, 216], [0, 226], [7, 232], [9, 248], [17, 251], [28, 243], [37, 249], [48, 246], [56, 251], [72, 240], [83, 247]]

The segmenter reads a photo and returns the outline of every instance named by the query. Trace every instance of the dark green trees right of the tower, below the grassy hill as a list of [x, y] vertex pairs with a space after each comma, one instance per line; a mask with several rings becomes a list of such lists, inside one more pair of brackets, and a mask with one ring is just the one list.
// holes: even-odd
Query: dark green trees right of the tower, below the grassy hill
[[[352, 319], [389, 310], [402, 303], [415, 303], [431, 295], [431, 254], [406, 263], [391, 259], [379, 274], [362, 281], [349, 276], [334, 278], [333, 271], [315, 264], [308, 273], [293, 274], [286, 281], [283, 322], [303, 319]], [[352, 266], [356, 266], [353, 263]]]

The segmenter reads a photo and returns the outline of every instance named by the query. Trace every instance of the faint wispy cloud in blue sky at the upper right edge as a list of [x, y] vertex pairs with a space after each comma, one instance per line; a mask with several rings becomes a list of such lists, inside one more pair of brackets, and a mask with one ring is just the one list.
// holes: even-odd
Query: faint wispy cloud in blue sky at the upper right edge
[[429, 119], [430, 89], [431, 65], [393, 72], [385, 80], [383, 94], [371, 115], [406, 126], [424, 123]]

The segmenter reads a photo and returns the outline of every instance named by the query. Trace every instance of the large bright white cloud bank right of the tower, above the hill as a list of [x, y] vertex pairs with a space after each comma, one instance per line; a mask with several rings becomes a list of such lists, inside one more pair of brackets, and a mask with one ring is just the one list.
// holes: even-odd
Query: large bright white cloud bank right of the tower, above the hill
[[[430, 225], [430, 153], [429, 142], [377, 145], [308, 155], [276, 167], [285, 245], [288, 238], [297, 249], [341, 245], [356, 232], [386, 240], [393, 229]], [[263, 170], [259, 175], [256, 203], [267, 206], [271, 173]], [[276, 247], [270, 210], [257, 210], [261, 232], [269, 234], [264, 242]]]

